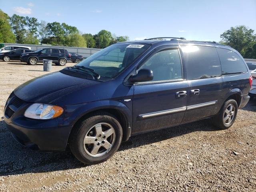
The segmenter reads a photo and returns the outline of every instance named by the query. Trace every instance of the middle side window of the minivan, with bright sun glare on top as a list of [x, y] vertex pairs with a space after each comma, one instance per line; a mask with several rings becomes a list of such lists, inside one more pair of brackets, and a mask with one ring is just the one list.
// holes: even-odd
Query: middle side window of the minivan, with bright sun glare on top
[[215, 47], [181, 46], [188, 80], [221, 76], [220, 59]]

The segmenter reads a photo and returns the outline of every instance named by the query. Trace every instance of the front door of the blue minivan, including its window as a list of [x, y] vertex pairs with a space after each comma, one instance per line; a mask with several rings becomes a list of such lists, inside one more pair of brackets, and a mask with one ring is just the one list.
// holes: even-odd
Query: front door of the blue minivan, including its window
[[187, 104], [188, 82], [183, 79], [178, 47], [157, 48], [137, 71], [153, 71], [153, 80], [134, 84], [132, 134], [180, 124]]

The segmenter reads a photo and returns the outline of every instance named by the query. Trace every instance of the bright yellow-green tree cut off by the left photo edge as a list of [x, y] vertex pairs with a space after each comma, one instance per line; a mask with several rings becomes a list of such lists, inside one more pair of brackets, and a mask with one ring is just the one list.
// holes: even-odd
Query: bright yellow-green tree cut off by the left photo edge
[[0, 42], [15, 43], [16, 37], [12, 32], [8, 19], [9, 16], [0, 10]]

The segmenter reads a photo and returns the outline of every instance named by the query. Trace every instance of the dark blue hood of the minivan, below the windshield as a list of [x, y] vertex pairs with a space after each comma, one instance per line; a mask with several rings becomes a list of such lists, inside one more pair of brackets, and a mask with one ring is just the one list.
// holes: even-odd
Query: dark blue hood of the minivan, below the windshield
[[18, 86], [14, 90], [14, 94], [26, 102], [50, 103], [70, 92], [98, 83], [100, 82], [53, 72]]

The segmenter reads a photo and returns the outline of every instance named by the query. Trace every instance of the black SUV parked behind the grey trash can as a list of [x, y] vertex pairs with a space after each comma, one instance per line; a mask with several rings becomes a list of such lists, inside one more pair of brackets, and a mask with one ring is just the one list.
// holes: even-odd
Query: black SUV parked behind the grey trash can
[[66, 49], [44, 48], [35, 52], [21, 54], [20, 61], [30, 65], [36, 65], [43, 62], [43, 59], [52, 60], [56, 65], [64, 66], [70, 62], [71, 55]]

